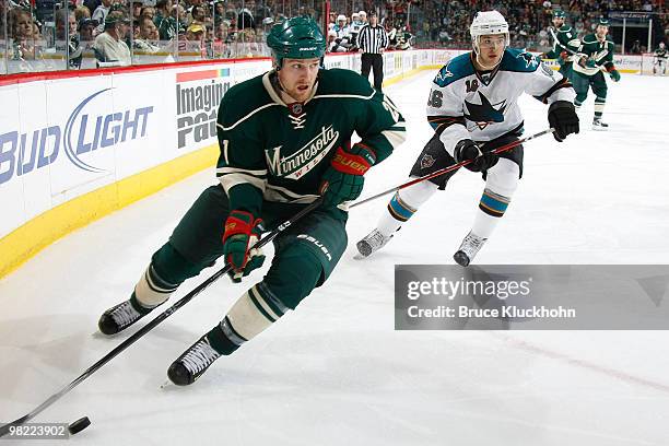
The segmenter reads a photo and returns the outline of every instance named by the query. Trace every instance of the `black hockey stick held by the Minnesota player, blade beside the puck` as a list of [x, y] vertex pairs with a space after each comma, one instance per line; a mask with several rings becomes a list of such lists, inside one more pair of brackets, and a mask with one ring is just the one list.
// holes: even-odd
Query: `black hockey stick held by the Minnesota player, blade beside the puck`
[[[295, 215], [293, 215], [292, 218], [290, 218], [289, 220], [286, 220], [285, 222], [280, 224], [275, 230], [271, 231], [268, 235], [266, 235], [265, 237], [259, 239], [249, 249], [260, 248], [260, 247], [267, 245], [272, 239], [274, 239], [280, 233], [285, 231], [286, 227], [289, 227], [290, 225], [294, 224], [297, 220], [302, 219], [304, 215], [306, 215], [307, 213], [312, 212], [314, 209], [318, 208], [318, 206], [320, 206], [321, 201], [322, 201], [322, 199], [318, 198], [316, 201], [312, 202], [309, 206], [304, 208], [302, 211], [297, 212]], [[111, 350], [109, 353], [104, 355], [99, 361], [97, 361], [95, 364], [93, 364], [91, 367], [89, 367], [85, 372], [83, 372], [81, 375], [79, 375], [79, 377], [77, 379], [72, 380], [70, 384], [64, 386], [58, 392], [51, 395], [46, 401], [44, 401], [42, 404], [39, 404], [35, 409], [33, 409], [33, 411], [26, 413], [25, 415], [21, 416], [20, 419], [16, 419], [16, 420], [12, 421], [11, 423], [8, 423], [8, 424], [4, 424], [3, 426], [0, 426], [0, 437], [7, 435], [10, 432], [10, 427], [19, 426], [19, 425], [27, 423], [28, 421], [34, 419], [37, 414], [39, 414], [42, 411], [44, 411], [46, 408], [51, 406], [54, 402], [58, 401], [63, 395], [66, 395], [70, 390], [72, 390], [74, 387], [77, 387], [79, 384], [81, 384], [89, 376], [93, 375], [93, 373], [95, 373], [97, 369], [99, 369], [103, 365], [105, 365], [106, 363], [111, 361], [114, 357], [118, 356], [119, 353], [121, 353], [128, 347], [132, 345], [137, 340], [139, 340], [141, 337], [146, 334], [149, 331], [151, 331], [153, 328], [155, 328], [155, 326], [161, 324], [163, 320], [165, 320], [169, 316], [172, 316], [173, 313], [175, 313], [177, 309], [179, 309], [180, 307], [186, 305], [188, 302], [190, 302], [195, 296], [200, 294], [201, 291], [203, 291], [206, 287], [208, 287], [213, 282], [215, 282], [221, 275], [226, 274], [231, 269], [232, 269], [232, 266], [230, 263], [226, 263], [225, 267], [223, 267], [222, 269], [220, 269], [219, 271], [213, 273], [209, 279], [207, 279], [204, 282], [200, 283], [195, 290], [192, 290], [190, 293], [186, 294], [179, 301], [175, 302], [174, 305], [172, 305], [169, 308], [165, 309], [163, 313], [157, 315], [149, 324], [146, 324], [145, 326], [140, 328], [137, 332], [134, 332], [132, 336], [130, 336], [124, 342], [118, 344], [114, 350]]]

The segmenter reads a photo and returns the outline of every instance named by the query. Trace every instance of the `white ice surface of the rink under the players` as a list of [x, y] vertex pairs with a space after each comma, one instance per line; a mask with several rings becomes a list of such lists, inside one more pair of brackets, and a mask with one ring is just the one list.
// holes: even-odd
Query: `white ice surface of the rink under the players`
[[[431, 134], [432, 77], [387, 89], [409, 140], [369, 172], [364, 195], [406, 180]], [[525, 176], [477, 261], [668, 263], [668, 86], [623, 75], [610, 83], [608, 132], [589, 130], [590, 96], [580, 134], [527, 143]], [[528, 133], [548, 127], [544, 105], [528, 96], [521, 106]], [[210, 171], [167, 188], [0, 281], [0, 420], [34, 409], [127, 338], [93, 334], [99, 314], [129, 296], [213, 181]], [[387, 200], [352, 211], [350, 246], [328, 283], [196, 385], [160, 388], [169, 363], [261, 273], [218, 281], [35, 421], [89, 415], [92, 426], [71, 439], [86, 445], [669, 444], [666, 332], [394, 331], [394, 265], [451, 263], [482, 188], [459, 173], [363, 261], [353, 260], [354, 242]]]

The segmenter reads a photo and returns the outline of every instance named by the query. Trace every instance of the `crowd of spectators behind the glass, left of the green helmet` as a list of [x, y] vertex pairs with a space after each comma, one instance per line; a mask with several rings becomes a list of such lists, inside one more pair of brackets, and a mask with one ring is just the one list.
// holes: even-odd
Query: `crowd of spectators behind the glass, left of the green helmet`
[[71, 69], [84, 54], [102, 67], [257, 57], [269, 56], [270, 27], [293, 14], [317, 12], [282, 0], [1, 0], [0, 40], [24, 62], [19, 71], [51, 54], [66, 54]]

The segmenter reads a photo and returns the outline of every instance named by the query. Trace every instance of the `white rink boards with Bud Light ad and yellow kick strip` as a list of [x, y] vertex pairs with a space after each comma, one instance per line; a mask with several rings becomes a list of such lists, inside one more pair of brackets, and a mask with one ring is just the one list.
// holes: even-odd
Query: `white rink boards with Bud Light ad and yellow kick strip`
[[[387, 52], [386, 83], [454, 52]], [[360, 70], [360, 55], [329, 56], [326, 66]], [[238, 59], [0, 79], [0, 278], [69, 232], [211, 166], [221, 97], [270, 67]]]

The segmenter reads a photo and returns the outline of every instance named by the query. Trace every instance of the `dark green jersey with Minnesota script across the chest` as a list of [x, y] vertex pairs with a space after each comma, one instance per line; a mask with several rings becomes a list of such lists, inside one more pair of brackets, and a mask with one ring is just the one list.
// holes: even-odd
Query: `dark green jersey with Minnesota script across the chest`
[[360, 74], [320, 70], [310, 98], [285, 104], [267, 72], [227, 91], [218, 117], [216, 175], [231, 209], [258, 215], [262, 200], [309, 203], [338, 146], [355, 131], [376, 164], [404, 140], [404, 119]]

